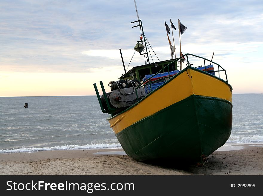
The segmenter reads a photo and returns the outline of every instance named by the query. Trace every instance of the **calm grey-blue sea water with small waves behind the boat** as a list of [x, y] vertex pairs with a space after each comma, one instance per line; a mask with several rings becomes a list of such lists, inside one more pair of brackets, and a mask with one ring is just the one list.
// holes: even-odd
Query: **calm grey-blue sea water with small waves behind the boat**
[[[0, 153], [121, 148], [109, 116], [96, 96], [0, 97]], [[227, 144], [262, 142], [263, 95], [233, 94]]]

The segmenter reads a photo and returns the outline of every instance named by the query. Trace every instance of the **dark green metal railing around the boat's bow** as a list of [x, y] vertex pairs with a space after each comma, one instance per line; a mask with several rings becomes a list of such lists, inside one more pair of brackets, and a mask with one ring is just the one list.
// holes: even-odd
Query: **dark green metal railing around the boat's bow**
[[[189, 56], [201, 58], [201, 59], [204, 60], [205, 72], [207, 72], [207, 73], [218, 72], [218, 78], [220, 78], [220, 72], [224, 72], [224, 73], [225, 73], [225, 77], [226, 77], [226, 82], [228, 82], [228, 80], [227, 80], [227, 72], [226, 72], [226, 70], [225, 70], [223, 67], [221, 67], [219, 64], [217, 64], [217, 63], [215, 63], [215, 62], [213, 62], [213, 61], [211, 61], [211, 60], [209, 60], [209, 59], [207, 59], [207, 58], [204, 58], [204, 57], [201, 57], [201, 56], [197, 56], [197, 55], [193, 55], [193, 54], [187, 53], [187, 54], [185, 54], [185, 55], [183, 55], [183, 56], [181, 56], [181, 57], [179, 57], [179, 58], [176, 58], [174, 61], [170, 62], [168, 65], [166, 65], [165, 67], [163, 67], [163, 68], [162, 68], [160, 71], [158, 71], [156, 74], [152, 75], [151, 77], [149, 77], [148, 79], [146, 79], [145, 81], [143, 81], [139, 86], [137, 86], [137, 87], [135, 88], [135, 92], [136, 92], [137, 98], [138, 98], [137, 89], [140, 88], [140, 87], [144, 87], [144, 86], [146, 86], [146, 85], [150, 85], [150, 90], [152, 91], [152, 81], [151, 81], [151, 79], [152, 79], [154, 76], [156, 76], [158, 73], [163, 72], [164, 69], [168, 68], [168, 76], [162, 77], [162, 78], [160, 78], [160, 79], [158, 79], [158, 80], [163, 80], [163, 79], [164, 79], [164, 82], [166, 82], [166, 79], [165, 79], [165, 78], [171, 79], [172, 77], [174, 77], [174, 75], [172, 75], [172, 77], [171, 77], [171, 75], [170, 75], [170, 71], [169, 71], [170, 65], [173, 64], [173, 63], [177, 63], [178, 61], [180, 61], [180, 59], [182, 59], [182, 58], [185, 57], [185, 56], [186, 56], [186, 60], [187, 60], [186, 67], [187, 67], [187, 66], [191, 67], [191, 65], [192, 65], [192, 64], [189, 63]], [[217, 65], [217, 66], [218, 66], [218, 70], [212, 70], [212, 71], [207, 70], [206, 61], [210, 62], [210, 65], [211, 65], [211, 63]], [[179, 66], [178, 66], [178, 67], [179, 67]], [[198, 67], [201, 67], [201, 66], [198, 66]], [[182, 70], [180, 70], [180, 71], [182, 71]], [[156, 81], [158, 81], [158, 80], [155, 80], [154, 82], [156, 82]], [[167, 81], [168, 81], [168, 80], [167, 80]]]

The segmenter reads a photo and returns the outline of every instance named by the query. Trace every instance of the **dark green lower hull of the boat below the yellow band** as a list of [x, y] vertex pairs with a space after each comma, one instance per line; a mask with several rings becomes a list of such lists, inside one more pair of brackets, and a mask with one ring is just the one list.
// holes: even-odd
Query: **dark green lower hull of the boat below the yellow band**
[[124, 151], [140, 160], [202, 163], [224, 145], [232, 129], [232, 104], [191, 95], [116, 134]]

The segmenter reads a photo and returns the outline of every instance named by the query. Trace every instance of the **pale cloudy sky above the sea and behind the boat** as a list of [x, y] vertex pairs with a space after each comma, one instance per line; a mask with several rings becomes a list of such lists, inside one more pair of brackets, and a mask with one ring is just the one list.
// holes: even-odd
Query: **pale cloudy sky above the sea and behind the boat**
[[[263, 93], [263, 1], [136, 3], [160, 61], [171, 58], [164, 21], [178, 27], [179, 19], [187, 27], [183, 54], [211, 59], [215, 52], [233, 93]], [[119, 49], [127, 68], [139, 41], [136, 20], [134, 0], [1, 0], [0, 97], [95, 95], [99, 81], [110, 92], [108, 82], [124, 73]], [[178, 57], [178, 29], [173, 33]], [[136, 52], [128, 70], [143, 64]]]

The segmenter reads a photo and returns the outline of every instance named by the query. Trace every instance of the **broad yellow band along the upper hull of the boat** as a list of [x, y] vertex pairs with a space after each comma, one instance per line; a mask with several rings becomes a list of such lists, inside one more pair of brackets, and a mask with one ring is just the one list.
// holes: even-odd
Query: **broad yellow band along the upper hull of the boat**
[[193, 94], [222, 98], [232, 103], [232, 92], [229, 85], [212, 75], [192, 69], [186, 71], [172, 78], [162, 88], [154, 91], [131, 109], [108, 119], [115, 134]]

